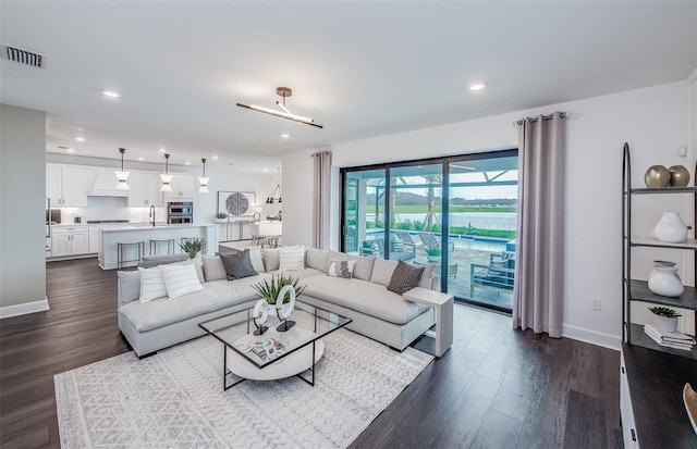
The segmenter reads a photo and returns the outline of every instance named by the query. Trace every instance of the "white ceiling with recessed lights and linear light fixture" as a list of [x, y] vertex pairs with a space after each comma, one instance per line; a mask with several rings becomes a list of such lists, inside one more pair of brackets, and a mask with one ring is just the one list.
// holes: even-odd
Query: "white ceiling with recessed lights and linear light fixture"
[[[2, 43], [47, 57], [44, 70], [0, 62], [0, 100], [47, 111], [47, 151], [163, 161], [166, 147], [173, 164], [273, 169], [289, 151], [684, 80], [697, 66], [694, 1], [2, 0], [0, 16]], [[476, 79], [488, 87], [469, 91]], [[278, 86], [325, 128], [235, 105], [274, 108]]]

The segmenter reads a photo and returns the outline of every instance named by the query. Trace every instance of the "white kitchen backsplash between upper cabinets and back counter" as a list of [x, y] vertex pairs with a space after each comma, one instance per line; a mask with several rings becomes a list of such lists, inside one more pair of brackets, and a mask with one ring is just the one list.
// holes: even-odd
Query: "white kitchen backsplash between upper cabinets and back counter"
[[[167, 208], [155, 208], [156, 220], [167, 220]], [[149, 208], [129, 208], [127, 198], [87, 197], [86, 208], [61, 208], [61, 222], [74, 223], [75, 216], [82, 216], [82, 223], [94, 220], [127, 220], [130, 222], [147, 222]]]

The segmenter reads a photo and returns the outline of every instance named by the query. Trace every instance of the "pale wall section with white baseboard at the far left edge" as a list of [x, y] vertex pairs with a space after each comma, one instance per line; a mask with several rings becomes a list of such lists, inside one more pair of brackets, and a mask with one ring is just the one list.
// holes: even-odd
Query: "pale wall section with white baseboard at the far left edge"
[[0, 316], [45, 310], [46, 113], [0, 105]]

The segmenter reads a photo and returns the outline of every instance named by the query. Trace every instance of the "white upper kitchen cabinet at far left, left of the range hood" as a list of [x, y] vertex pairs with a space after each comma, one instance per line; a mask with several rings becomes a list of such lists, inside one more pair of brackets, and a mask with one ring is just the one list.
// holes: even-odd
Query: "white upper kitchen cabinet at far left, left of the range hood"
[[61, 165], [46, 166], [46, 197], [53, 208], [86, 208], [89, 172]]

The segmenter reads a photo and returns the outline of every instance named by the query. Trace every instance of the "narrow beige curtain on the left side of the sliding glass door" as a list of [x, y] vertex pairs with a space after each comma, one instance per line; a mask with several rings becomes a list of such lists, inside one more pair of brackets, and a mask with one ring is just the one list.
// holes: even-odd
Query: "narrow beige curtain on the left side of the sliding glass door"
[[331, 195], [331, 151], [313, 154], [313, 246], [329, 248], [329, 205]]

